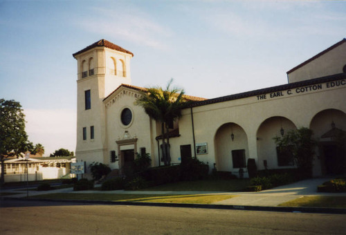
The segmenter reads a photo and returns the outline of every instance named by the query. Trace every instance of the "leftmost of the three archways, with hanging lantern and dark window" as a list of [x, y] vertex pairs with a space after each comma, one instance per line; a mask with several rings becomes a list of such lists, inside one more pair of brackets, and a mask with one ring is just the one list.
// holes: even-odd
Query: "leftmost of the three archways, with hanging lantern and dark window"
[[218, 171], [246, 171], [248, 137], [242, 126], [233, 122], [223, 124], [215, 134], [215, 162]]

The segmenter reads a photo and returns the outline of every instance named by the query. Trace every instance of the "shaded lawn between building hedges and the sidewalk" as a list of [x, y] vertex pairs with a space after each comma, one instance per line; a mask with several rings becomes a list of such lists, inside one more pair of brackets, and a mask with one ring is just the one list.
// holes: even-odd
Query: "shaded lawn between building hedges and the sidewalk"
[[250, 179], [197, 180], [158, 185], [141, 191], [243, 191], [250, 185]]

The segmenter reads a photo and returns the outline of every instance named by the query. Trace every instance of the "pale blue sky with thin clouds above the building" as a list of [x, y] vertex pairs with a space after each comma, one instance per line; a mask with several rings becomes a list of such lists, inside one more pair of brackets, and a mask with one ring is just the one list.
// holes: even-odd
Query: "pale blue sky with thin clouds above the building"
[[77, 61], [106, 39], [134, 53], [135, 86], [214, 98], [287, 83], [346, 37], [346, 1], [0, 0], [0, 98], [20, 102], [45, 156], [75, 151]]

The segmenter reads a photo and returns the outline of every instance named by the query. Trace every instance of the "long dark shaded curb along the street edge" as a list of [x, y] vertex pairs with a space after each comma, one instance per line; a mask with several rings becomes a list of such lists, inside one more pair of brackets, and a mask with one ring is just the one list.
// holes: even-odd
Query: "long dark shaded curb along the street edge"
[[188, 203], [138, 203], [138, 202], [113, 202], [106, 200], [71, 200], [71, 199], [37, 199], [37, 198], [10, 198], [2, 197], [0, 200], [30, 200], [56, 203], [80, 203], [93, 205], [132, 205], [148, 207], [180, 207], [199, 209], [235, 209], [244, 211], [262, 212], [291, 212], [291, 213], [316, 213], [316, 214], [346, 214], [346, 208], [329, 207], [260, 207], [248, 205], [211, 205], [211, 204], [188, 204]]

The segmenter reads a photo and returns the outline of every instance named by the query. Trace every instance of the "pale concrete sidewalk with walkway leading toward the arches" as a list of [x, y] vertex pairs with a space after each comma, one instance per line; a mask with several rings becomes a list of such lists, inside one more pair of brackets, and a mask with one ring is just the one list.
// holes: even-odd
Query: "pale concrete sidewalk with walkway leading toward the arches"
[[[55, 193], [70, 193], [70, 194], [223, 194], [235, 195], [236, 197], [227, 200], [221, 200], [215, 205], [239, 205], [239, 206], [260, 206], [260, 207], [276, 207], [281, 203], [285, 203], [295, 198], [304, 196], [346, 196], [346, 193], [319, 193], [317, 186], [322, 182], [330, 180], [331, 178], [312, 178], [309, 180], [301, 180], [294, 182], [290, 185], [275, 187], [259, 192], [235, 192], [235, 191], [73, 191], [73, 188], [55, 189], [51, 191], [28, 191], [29, 196], [41, 194], [55, 194]], [[97, 187], [99, 185], [95, 185]], [[24, 198], [26, 197], [26, 190], [19, 191], [18, 189], [6, 189], [1, 192], [16, 193], [14, 195], [6, 196], [9, 198]]]

